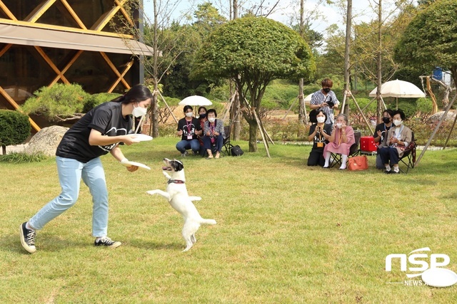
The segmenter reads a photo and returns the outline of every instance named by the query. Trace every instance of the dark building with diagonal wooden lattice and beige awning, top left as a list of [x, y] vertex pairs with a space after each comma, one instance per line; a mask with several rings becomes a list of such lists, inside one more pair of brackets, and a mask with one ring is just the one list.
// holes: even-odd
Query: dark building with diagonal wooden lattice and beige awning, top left
[[138, 27], [130, 16], [139, 12], [129, 3], [0, 0], [0, 108], [19, 108], [55, 83], [79, 83], [88, 93], [121, 93], [139, 83], [137, 58], [152, 52], [137, 37], [118, 33], [121, 25]]

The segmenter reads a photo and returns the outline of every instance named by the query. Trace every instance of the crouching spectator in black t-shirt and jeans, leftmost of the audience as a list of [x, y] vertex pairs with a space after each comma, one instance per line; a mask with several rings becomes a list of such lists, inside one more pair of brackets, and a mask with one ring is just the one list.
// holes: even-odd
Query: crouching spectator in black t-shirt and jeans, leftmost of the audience
[[181, 141], [176, 144], [176, 150], [181, 152], [181, 156], [185, 157], [189, 154], [186, 150], [192, 149], [194, 154], [199, 153], [200, 142], [197, 140], [197, 135], [201, 135], [201, 127], [198, 119], [194, 117], [194, 109], [190, 105], [184, 106], [184, 114], [186, 117], [181, 118], [178, 122], [178, 132], [181, 136]]

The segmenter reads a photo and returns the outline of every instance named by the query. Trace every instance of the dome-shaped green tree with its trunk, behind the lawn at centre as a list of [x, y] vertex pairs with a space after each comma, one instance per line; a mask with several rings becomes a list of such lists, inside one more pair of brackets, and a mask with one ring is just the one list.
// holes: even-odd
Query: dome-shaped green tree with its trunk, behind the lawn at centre
[[[211, 33], [196, 54], [196, 78], [233, 78], [241, 107], [246, 102], [258, 115], [263, 93], [277, 78], [308, 78], [313, 73], [311, 50], [296, 31], [264, 17], [243, 17]], [[257, 151], [258, 125], [253, 112], [243, 111], [249, 124], [249, 151]]]

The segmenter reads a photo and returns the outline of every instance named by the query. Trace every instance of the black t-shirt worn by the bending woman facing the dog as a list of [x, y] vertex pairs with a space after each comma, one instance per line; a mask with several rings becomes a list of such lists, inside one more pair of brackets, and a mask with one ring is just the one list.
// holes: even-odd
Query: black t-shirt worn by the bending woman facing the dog
[[104, 136], [126, 135], [132, 127], [131, 116], [122, 117], [122, 103], [102, 103], [87, 112], [76, 124], [66, 131], [56, 155], [76, 159], [79, 162], [107, 154], [119, 143], [108, 146], [89, 145], [91, 130], [97, 130]]

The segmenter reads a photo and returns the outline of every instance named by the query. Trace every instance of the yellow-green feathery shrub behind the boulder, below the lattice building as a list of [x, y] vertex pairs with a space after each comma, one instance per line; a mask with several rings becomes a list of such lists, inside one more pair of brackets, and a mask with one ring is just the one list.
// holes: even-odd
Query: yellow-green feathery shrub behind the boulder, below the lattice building
[[50, 122], [59, 122], [81, 114], [90, 96], [81, 85], [56, 83], [51, 88], [36, 90], [22, 105], [22, 110], [29, 115], [43, 115]]

